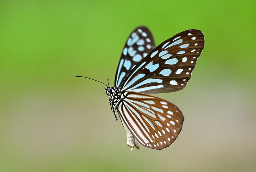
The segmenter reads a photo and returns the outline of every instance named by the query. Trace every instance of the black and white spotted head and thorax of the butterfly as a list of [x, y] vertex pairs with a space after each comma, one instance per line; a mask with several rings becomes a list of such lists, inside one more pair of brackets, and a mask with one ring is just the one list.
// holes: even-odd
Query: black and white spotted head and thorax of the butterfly
[[107, 95], [109, 96], [109, 102], [112, 108], [119, 105], [119, 103], [124, 98], [121, 91], [117, 87], [107, 87], [105, 88]]

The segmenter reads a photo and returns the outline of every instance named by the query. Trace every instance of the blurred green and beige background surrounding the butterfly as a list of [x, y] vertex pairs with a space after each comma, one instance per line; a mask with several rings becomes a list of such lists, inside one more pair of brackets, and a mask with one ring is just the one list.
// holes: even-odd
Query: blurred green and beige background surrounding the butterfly
[[[0, 171], [256, 170], [256, 2], [0, 1]], [[103, 85], [130, 32], [156, 45], [205, 35], [188, 86], [159, 94], [183, 111], [177, 141], [130, 151]]]

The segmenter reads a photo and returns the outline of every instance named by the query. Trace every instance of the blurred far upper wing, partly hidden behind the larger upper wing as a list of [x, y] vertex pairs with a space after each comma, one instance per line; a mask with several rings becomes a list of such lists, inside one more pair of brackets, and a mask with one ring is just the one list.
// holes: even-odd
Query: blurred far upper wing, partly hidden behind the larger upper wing
[[136, 28], [124, 45], [117, 66], [115, 86], [119, 87], [129, 72], [154, 48], [154, 39], [150, 30], [145, 26]]

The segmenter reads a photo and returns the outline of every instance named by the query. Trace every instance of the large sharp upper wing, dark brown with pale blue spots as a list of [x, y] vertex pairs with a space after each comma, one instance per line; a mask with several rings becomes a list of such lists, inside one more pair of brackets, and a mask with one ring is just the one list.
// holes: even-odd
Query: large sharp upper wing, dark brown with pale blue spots
[[167, 39], [133, 68], [121, 91], [154, 94], [182, 90], [203, 48], [200, 30], [186, 30]]

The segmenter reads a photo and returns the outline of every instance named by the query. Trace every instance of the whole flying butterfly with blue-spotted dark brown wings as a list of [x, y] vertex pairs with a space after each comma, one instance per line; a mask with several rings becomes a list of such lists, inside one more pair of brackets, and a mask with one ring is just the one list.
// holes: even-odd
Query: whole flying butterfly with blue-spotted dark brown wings
[[[161, 150], [181, 132], [184, 116], [173, 103], [149, 94], [182, 90], [204, 48], [201, 30], [178, 33], [155, 47], [145, 26], [132, 31], [117, 67], [114, 87], [106, 94], [127, 132], [127, 145]], [[104, 83], [103, 83], [104, 84]], [[106, 84], [105, 84], [106, 85]]]

